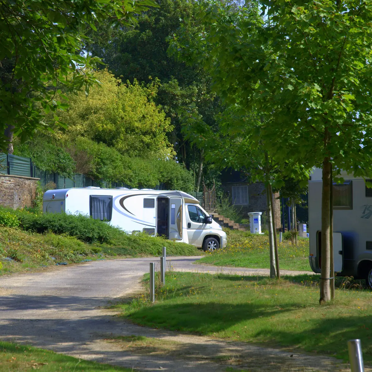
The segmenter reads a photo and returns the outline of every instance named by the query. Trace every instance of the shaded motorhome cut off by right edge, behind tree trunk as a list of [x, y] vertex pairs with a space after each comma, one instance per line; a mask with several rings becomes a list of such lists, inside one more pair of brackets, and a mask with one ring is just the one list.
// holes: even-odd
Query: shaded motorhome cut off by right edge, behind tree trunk
[[[362, 177], [342, 171], [341, 176], [344, 183], [333, 185], [334, 269], [337, 275], [366, 279], [372, 288], [372, 188]], [[309, 261], [315, 273], [321, 266], [321, 203], [322, 170], [317, 168], [309, 181]]]

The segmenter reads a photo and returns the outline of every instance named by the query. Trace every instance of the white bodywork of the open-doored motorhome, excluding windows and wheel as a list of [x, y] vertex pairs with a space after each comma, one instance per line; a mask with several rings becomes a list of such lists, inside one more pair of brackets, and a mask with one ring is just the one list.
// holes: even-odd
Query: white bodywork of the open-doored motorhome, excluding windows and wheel
[[[199, 239], [190, 241], [188, 226], [190, 217], [187, 205], [197, 205], [207, 216], [199, 201], [182, 191], [163, 191], [151, 189], [101, 189], [94, 187], [48, 190], [43, 196], [43, 212], [91, 215], [91, 196], [112, 196], [112, 215], [108, 223], [122, 230], [158, 234], [161, 224], [167, 226], [170, 240], [181, 241], [201, 247], [206, 237], [218, 237], [224, 247], [227, 243], [226, 233], [217, 222], [199, 224]], [[152, 200], [151, 200], [152, 199]], [[158, 216], [158, 199], [166, 201], [166, 217]], [[150, 202], [150, 203], [149, 203]], [[163, 235], [163, 234], [162, 234]]]

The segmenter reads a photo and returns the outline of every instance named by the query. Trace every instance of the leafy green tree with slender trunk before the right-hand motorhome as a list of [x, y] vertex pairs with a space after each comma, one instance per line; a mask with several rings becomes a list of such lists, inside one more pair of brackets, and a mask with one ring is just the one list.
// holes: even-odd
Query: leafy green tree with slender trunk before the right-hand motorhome
[[[203, 31], [174, 45], [218, 93], [270, 113], [260, 132], [283, 160], [323, 169], [320, 302], [330, 300], [331, 169], [371, 177], [372, 0], [263, 0], [230, 16], [205, 4]], [[208, 58], [205, 58], [205, 55]]]

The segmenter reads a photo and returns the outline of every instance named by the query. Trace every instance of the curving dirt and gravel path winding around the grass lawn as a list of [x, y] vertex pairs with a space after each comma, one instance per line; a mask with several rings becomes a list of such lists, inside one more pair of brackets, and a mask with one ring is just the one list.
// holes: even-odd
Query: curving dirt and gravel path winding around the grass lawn
[[[170, 257], [170, 265], [180, 271], [221, 272], [215, 266], [193, 265], [199, 258]], [[0, 277], [0, 339], [141, 371], [222, 372], [227, 366], [249, 371], [344, 370], [330, 357], [187, 336], [113, 317], [105, 309], [107, 302], [138, 291], [152, 261], [97, 261], [48, 273]], [[267, 271], [224, 269], [238, 275], [267, 275]], [[150, 342], [131, 342], [131, 335], [149, 337]], [[125, 339], [113, 342], [114, 336]]]

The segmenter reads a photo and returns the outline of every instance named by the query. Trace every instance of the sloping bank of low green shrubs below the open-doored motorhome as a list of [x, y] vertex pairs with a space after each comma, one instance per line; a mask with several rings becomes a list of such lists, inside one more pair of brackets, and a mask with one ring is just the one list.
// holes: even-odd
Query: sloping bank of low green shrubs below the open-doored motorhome
[[0, 275], [49, 265], [113, 257], [200, 255], [197, 248], [150, 237], [126, 234], [86, 216], [34, 214], [0, 207]]

